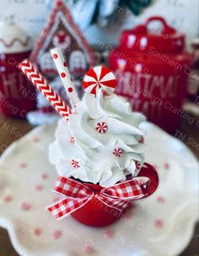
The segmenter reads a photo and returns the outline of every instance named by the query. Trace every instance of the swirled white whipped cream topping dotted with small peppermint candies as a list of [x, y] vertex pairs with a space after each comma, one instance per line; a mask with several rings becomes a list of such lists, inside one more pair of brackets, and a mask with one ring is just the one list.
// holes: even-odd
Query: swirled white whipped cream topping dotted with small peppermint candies
[[50, 161], [63, 177], [108, 187], [136, 176], [143, 165], [145, 117], [117, 95], [85, 93], [69, 121], [62, 119], [50, 147]]

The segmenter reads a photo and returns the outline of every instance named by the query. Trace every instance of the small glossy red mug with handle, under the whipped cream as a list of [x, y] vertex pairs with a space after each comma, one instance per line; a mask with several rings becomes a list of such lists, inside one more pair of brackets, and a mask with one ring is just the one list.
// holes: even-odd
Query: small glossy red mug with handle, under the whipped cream
[[[138, 177], [148, 177], [150, 179], [148, 188], [145, 190], [143, 189], [143, 193], [145, 194], [144, 198], [154, 193], [156, 188], [158, 188], [159, 177], [153, 166], [145, 163], [140, 170]], [[94, 193], [100, 193], [103, 189], [100, 185], [95, 185], [89, 182], [83, 182], [83, 184], [91, 188]], [[120, 220], [124, 214], [125, 211], [121, 212], [106, 206], [101, 203], [99, 199], [94, 197], [94, 199], [83, 205], [82, 208], [74, 211], [71, 215], [76, 221], [87, 226], [108, 226]]]

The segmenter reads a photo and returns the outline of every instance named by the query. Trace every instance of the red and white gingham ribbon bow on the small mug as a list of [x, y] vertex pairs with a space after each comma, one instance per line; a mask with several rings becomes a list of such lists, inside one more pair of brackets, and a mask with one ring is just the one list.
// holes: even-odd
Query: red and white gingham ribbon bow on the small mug
[[[58, 177], [54, 192], [64, 196], [56, 204], [48, 207], [48, 210], [57, 219], [66, 217], [97, 197], [103, 204], [116, 210], [126, 209], [127, 204], [135, 199], [141, 199], [145, 195], [141, 186], [148, 184], [148, 177], [134, 177], [132, 180], [120, 182], [109, 188], [103, 188], [100, 193], [95, 193], [83, 183], [71, 178]], [[142, 184], [142, 185], [141, 185]]]

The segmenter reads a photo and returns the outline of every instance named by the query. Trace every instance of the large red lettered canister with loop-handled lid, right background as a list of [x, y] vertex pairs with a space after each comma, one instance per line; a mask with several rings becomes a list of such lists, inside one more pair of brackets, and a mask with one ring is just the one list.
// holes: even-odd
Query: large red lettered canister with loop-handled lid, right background
[[[152, 21], [162, 29], [148, 30]], [[181, 106], [191, 55], [185, 52], [182, 35], [161, 17], [151, 17], [133, 30], [125, 30], [120, 46], [110, 52], [110, 68], [117, 78], [116, 93], [126, 97], [134, 111], [167, 131], [178, 127], [185, 117]]]

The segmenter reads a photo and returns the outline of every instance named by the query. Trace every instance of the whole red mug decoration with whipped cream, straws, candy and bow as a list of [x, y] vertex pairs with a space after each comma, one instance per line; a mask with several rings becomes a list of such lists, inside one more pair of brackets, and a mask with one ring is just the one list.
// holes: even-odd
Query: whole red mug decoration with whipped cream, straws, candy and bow
[[[70, 74], [62, 53], [56, 48], [51, 54], [70, 101], [75, 103], [76, 91], [72, 94], [75, 88], [68, 87]], [[76, 101], [72, 108], [56, 95], [30, 61], [24, 60], [19, 68], [64, 117], [49, 155], [60, 175], [54, 191], [62, 199], [48, 208], [56, 218], [73, 215], [83, 224], [106, 226], [118, 221], [133, 200], [156, 190], [158, 174], [143, 162], [143, 144], [139, 143], [144, 135], [139, 124], [145, 117], [132, 113], [126, 101], [113, 94], [115, 77], [108, 68], [89, 70], [83, 83], [97, 83], [98, 88], [85, 91], [82, 101]], [[107, 209], [115, 210], [116, 215]]]

